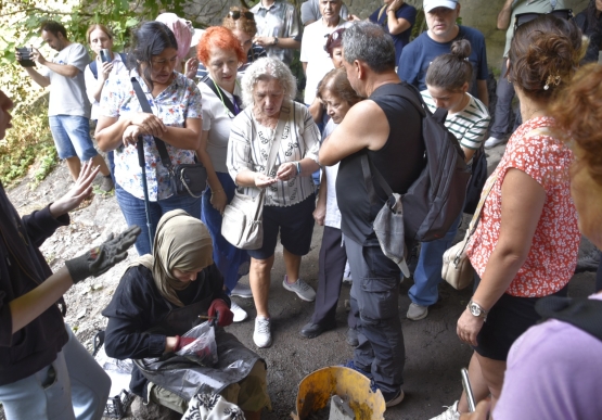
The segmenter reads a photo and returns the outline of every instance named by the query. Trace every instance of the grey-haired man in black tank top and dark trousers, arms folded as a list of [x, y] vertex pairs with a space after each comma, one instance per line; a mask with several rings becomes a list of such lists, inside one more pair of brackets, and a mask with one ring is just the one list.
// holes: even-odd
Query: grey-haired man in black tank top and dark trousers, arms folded
[[361, 22], [347, 28], [343, 54], [349, 82], [368, 97], [349, 110], [320, 150], [322, 165], [341, 162], [336, 199], [354, 278], [351, 311], [359, 326], [359, 345], [347, 366], [373, 379], [392, 407], [404, 399], [400, 270], [383, 254], [374, 234], [374, 218], [386, 194], [376, 182], [369, 195], [371, 180], [364, 181], [361, 158], [368, 155], [393, 191], [405, 193], [424, 167], [422, 123], [413, 105], [394, 94], [401, 86], [395, 47], [380, 26]]

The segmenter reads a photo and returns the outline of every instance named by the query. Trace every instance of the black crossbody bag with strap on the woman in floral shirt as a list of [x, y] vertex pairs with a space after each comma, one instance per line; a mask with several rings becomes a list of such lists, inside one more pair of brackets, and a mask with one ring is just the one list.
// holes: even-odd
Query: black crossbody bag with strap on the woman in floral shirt
[[[151, 105], [149, 105], [149, 100], [144, 96], [142, 87], [136, 77], [131, 78], [131, 85], [133, 86], [142, 111], [152, 114], [153, 111], [151, 110]], [[207, 187], [207, 169], [205, 166], [203, 166], [202, 163], [172, 165], [165, 142], [158, 137], [153, 138], [155, 139], [155, 144], [161, 156], [161, 163], [169, 171], [171, 187], [176, 195], [192, 195], [198, 199]]]

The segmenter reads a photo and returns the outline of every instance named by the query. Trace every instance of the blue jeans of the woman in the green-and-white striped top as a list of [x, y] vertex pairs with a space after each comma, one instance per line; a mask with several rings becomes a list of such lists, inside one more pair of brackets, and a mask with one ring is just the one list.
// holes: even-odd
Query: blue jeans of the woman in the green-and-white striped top
[[444, 253], [451, 246], [461, 221], [462, 213], [453, 221], [445, 237], [432, 242], [422, 242], [414, 270], [414, 284], [408, 292], [410, 301], [413, 303], [420, 306], [431, 306], [439, 298], [438, 287], [443, 281]]

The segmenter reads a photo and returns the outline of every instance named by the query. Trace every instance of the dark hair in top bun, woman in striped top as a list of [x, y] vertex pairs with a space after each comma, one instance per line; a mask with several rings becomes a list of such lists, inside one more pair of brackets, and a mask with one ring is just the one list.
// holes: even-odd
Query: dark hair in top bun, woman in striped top
[[469, 61], [471, 42], [466, 39], [453, 41], [451, 52], [435, 58], [426, 69], [426, 85], [450, 92], [471, 85], [473, 66]]

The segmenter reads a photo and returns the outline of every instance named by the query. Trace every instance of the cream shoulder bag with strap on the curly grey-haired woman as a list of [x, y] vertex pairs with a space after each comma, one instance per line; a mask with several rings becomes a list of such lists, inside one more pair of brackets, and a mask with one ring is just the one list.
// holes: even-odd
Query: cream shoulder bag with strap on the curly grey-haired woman
[[[289, 120], [292, 103], [283, 104], [280, 109], [280, 119], [276, 127], [273, 141], [266, 165], [266, 175], [269, 175], [280, 149], [280, 141], [284, 126]], [[253, 123], [252, 123], [253, 124]], [[259, 194], [251, 196], [236, 190], [234, 198], [223, 209], [221, 220], [221, 236], [240, 250], [258, 250], [264, 244], [264, 203], [266, 189], [261, 188]]]

